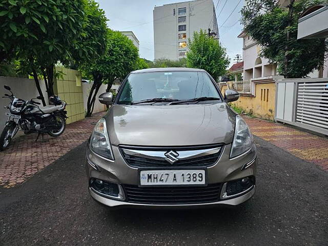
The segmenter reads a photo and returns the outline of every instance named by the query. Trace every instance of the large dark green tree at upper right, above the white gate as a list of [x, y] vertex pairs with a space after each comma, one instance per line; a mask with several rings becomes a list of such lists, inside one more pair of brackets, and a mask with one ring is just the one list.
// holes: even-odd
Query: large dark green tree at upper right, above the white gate
[[262, 50], [260, 56], [278, 65], [286, 78], [305, 77], [323, 65], [328, 41], [297, 39], [298, 18], [305, 9], [326, 1], [291, 0], [286, 8], [278, 0], [251, 0], [242, 8], [244, 31]]

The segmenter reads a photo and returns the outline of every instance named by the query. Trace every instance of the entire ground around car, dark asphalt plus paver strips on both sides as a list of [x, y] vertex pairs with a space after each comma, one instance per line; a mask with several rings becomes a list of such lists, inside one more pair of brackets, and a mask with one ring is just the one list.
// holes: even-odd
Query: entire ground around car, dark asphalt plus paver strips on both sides
[[[103, 113], [58, 137], [0, 152], [1, 245], [327, 245], [324, 137], [245, 117], [258, 149], [256, 193], [234, 208], [111, 210], [87, 193], [86, 140]], [[10, 188], [10, 189], [7, 189]]]

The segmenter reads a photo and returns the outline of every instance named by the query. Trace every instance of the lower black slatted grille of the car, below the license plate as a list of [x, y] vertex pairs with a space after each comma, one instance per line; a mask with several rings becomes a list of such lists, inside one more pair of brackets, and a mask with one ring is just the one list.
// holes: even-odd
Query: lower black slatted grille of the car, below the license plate
[[138, 187], [124, 186], [127, 201], [144, 204], [191, 204], [219, 200], [221, 184], [207, 187]]

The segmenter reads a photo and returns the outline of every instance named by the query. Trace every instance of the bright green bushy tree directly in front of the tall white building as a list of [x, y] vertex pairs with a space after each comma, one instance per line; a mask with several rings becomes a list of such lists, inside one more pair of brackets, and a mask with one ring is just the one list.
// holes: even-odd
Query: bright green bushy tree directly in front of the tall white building
[[226, 72], [229, 61], [226, 48], [206, 31], [194, 32], [193, 40], [189, 39], [187, 67], [204, 69], [217, 79]]

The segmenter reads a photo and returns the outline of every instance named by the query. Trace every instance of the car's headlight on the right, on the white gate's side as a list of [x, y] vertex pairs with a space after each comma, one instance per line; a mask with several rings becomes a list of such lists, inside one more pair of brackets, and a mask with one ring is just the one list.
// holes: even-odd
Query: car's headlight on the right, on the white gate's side
[[253, 135], [246, 122], [240, 115], [236, 115], [235, 135], [232, 142], [230, 158], [241, 155], [253, 146]]

